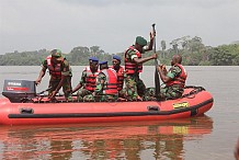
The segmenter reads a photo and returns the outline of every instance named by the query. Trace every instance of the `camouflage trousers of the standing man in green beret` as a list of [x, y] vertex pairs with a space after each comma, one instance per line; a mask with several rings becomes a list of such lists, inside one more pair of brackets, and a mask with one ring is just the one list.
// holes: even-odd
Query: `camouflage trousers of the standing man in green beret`
[[129, 101], [135, 101], [138, 96], [144, 96], [146, 85], [139, 76], [127, 75], [125, 78], [125, 98]]

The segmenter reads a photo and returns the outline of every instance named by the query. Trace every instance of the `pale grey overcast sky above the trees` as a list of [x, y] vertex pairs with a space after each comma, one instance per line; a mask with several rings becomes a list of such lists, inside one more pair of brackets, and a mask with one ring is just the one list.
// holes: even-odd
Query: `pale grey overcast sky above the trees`
[[0, 0], [0, 54], [93, 45], [120, 53], [137, 35], [149, 39], [152, 23], [157, 47], [185, 35], [230, 44], [239, 41], [239, 0]]

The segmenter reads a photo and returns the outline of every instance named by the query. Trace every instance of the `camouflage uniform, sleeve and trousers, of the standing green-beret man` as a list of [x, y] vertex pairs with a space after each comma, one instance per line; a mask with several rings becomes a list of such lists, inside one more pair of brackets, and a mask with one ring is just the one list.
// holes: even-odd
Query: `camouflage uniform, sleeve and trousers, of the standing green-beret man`
[[[143, 50], [145, 53], [145, 50]], [[133, 61], [136, 58], [135, 50], [128, 50], [126, 58], [128, 61]], [[135, 101], [139, 96], [144, 96], [146, 92], [146, 85], [143, 80], [139, 78], [139, 73], [135, 70], [134, 75], [125, 75], [125, 98], [129, 101]]]

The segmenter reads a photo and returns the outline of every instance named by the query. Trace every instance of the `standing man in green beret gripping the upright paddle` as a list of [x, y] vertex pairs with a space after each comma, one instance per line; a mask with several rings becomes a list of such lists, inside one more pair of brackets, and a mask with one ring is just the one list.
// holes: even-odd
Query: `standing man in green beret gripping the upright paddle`
[[150, 33], [149, 46], [146, 46], [147, 41], [144, 37], [137, 36], [135, 45], [125, 52], [125, 98], [129, 101], [144, 99], [146, 87], [139, 78], [139, 73], [143, 71], [143, 64], [156, 59], [157, 54], [145, 58], [141, 57], [141, 54], [151, 50], [152, 44], [153, 34]]

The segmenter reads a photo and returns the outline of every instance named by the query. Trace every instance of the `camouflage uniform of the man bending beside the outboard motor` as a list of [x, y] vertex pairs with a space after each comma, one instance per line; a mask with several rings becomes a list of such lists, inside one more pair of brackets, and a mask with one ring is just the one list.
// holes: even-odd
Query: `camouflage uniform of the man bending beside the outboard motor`
[[[43, 61], [43, 66], [45, 68], [47, 68], [47, 60]], [[72, 98], [71, 98], [71, 92], [72, 92], [72, 87], [71, 87], [72, 71], [71, 71], [69, 62], [66, 60], [66, 58], [64, 58], [64, 61], [61, 62], [60, 67], [61, 67], [61, 69], [60, 69], [61, 70], [61, 75], [66, 76], [66, 79], [65, 79], [64, 84], [62, 84], [62, 91], [64, 91], [65, 98], [68, 101], [71, 101], [72, 100]], [[52, 92], [56, 90], [56, 88], [57, 88], [59, 82], [60, 82], [60, 78], [50, 76], [49, 85], [48, 85], [48, 88], [50, 88], [50, 90], [48, 91], [48, 94], [52, 94]]]

